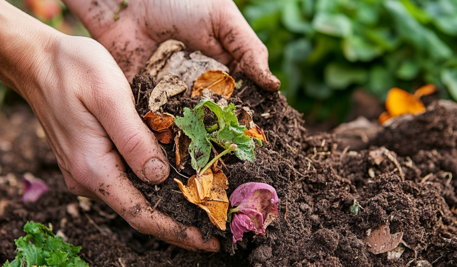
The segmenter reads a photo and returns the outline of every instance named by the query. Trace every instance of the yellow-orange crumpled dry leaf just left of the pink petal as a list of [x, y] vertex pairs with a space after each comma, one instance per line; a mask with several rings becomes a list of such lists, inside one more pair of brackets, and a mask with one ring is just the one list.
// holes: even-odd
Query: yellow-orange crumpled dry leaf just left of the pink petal
[[189, 202], [206, 211], [211, 222], [217, 228], [225, 231], [228, 210], [228, 198], [225, 193], [225, 189], [228, 188], [227, 177], [222, 170], [214, 172], [210, 195], [204, 200], [200, 199], [195, 183], [191, 180], [192, 177], [187, 181], [187, 186], [184, 186], [178, 179], [175, 179], [175, 182], [178, 183], [179, 189]]

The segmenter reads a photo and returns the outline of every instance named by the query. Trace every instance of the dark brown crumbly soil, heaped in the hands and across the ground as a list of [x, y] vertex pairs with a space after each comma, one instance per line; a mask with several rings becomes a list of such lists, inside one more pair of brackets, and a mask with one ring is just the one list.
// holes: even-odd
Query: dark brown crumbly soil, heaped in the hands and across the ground
[[[14, 258], [13, 239], [22, 235], [27, 220], [34, 220], [52, 223], [54, 231], [61, 230], [69, 242], [82, 246], [81, 257], [91, 266], [455, 266], [457, 181], [451, 177], [457, 177], [457, 109], [433, 102], [426, 113], [385, 128], [374, 143], [378, 146], [342, 151], [329, 133], [308, 135], [301, 114], [280, 94], [260, 90], [241, 74], [234, 78], [243, 79], [243, 85], [228, 101], [254, 111], [253, 121], [264, 129], [268, 143], [256, 146], [254, 163], [223, 157], [230, 183], [227, 195], [246, 182], [276, 188], [279, 217], [265, 236], [245, 233], [233, 244], [228, 224], [227, 231], [218, 230], [203, 210], [184, 199], [173, 179], [187, 181], [173, 168], [169, 179], [157, 187], [129, 171], [152, 206], [160, 200], [156, 209], [179, 223], [199, 227], [206, 238], [218, 236], [223, 250], [185, 251], [134, 231], [103, 203], [92, 201], [91, 209], [83, 211], [56, 166], [42, 162], [34, 174], [51, 191], [37, 203], [19, 200], [20, 172], [14, 179], [14, 174], [6, 175], [14, 170], [0, 176], [0, 262]], [[137, 109], [143, 115], [154, 84], [149, 77], [137, 77], [132, 85], [136, 99], [139, 84]], [[215, 101], [219, 98], [214, 96]], [[179, 116], [199, 100], [172, 97], [163, 111]], [[176, 167], [173, 144], [162, 147]], [[11, 151], [0, 151], [0, 158]], [[191, 176], [194, 170], [187, 163], [180, 173]], [[353, 209], [351, 213], [354, 203], [360, 206], [358, 214]], [[76, 215], [69, 213], [69, 204], [77, 207]], [[391, 234], [403, 232], [399, 247], [405, 250], [399, 258], [373, 254], [365, 242], [367, 232], [384, 224]]]

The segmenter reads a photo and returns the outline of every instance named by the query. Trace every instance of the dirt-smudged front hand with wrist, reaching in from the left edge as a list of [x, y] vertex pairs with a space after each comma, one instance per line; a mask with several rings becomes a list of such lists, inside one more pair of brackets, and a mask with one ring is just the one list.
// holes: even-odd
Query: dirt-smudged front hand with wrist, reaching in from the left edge
[[100, 198], [140, 232], [187, 249], [217, 251], [195, 227], [152, 211], [126, 177], [169, 174], [167, 159], [138, 116], [130, 86], [110, 53], [90, 38], [63, 35], [0, 0], [0, 79], [42, 124], [69, 189]]

